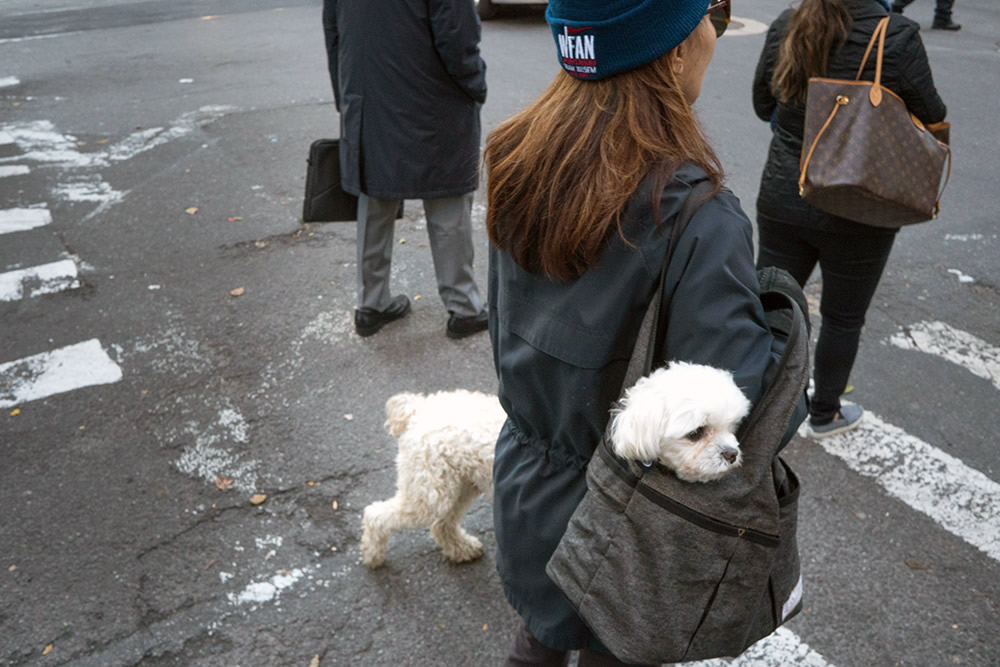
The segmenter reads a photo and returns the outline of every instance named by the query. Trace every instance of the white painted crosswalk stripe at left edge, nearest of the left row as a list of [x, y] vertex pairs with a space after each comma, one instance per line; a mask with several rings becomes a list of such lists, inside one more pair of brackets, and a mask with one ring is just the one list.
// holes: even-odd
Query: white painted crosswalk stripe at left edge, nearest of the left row
[[122, 369], [92, 338], [0, 364], [0, 408], [121, 379]]

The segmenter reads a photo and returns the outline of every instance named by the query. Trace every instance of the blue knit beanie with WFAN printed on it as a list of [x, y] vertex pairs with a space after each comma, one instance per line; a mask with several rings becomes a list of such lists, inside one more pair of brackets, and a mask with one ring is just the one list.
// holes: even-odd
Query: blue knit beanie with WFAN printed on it
[[545, 18], [559, 62], [578, 79], [651, 63], [687, 39], [708, 0], [550, 0]]

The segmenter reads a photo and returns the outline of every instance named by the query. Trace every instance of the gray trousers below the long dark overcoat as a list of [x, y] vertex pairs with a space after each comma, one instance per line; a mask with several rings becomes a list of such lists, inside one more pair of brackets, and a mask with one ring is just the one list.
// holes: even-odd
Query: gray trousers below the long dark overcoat
[[[471, 317], [483, 310], [472, 271], [473, 193], [425, 199], [438, 294], [448, 312]], [[389, 273], [399, 199], [358, 197], [358, 308], [385, 310], [392, 301]]]

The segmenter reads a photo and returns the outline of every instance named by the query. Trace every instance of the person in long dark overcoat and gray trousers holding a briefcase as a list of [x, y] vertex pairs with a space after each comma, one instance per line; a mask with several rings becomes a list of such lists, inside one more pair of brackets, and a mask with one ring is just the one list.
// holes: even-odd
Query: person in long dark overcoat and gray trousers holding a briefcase
[[323, 28], [340, 112], [341, 185], [358, 196], [355, 329], [377, 332], [410, 309], [389, 291], [396, 211], [422, 199], [446, 333], [486, 329], [473, 276], [486, 64], [470, 0], [325, 0]]

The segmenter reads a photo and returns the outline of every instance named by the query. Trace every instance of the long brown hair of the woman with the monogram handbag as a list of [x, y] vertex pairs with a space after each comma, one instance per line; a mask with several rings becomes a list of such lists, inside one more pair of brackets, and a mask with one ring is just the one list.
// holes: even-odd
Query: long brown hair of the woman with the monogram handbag
[[802, 0], [778, 51], [771, 79], [775, 96], [782, 102], [805, 103], [809, 77], [826, 76], [830, 56], [847, 39], [851, 24], [843, 0]]

